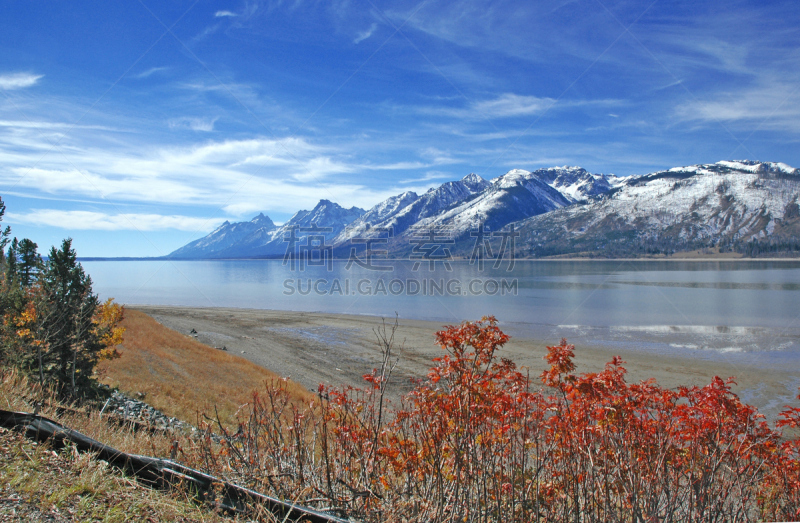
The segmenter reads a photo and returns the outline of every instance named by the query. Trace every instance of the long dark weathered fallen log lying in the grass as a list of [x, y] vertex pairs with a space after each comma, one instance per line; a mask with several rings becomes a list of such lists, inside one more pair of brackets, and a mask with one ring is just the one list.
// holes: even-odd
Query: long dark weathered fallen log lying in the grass
[[348, 523], [348, 520], [260, 494], [171, 460], [121, 452], [37, 414], [0, 409], [0, 425], [22, 429], [27, 437], [48, 441], [56, 448], [71, 442], [78, 450], [96, 453], [99, 459], [136, 476], [143, 483], [162, 489], [188, 488], [200, 501], [210, 502], [223, 510], [249, 513], [255, 506], [263, 506], [281, 520]]

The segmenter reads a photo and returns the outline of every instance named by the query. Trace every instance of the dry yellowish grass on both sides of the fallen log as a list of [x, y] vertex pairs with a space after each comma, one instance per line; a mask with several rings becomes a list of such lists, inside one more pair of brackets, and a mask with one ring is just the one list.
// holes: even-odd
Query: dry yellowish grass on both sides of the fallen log
[[[199, 445], [213, 455], [218, 444], [186, 435], [149, 434], [109, 424], [96, 410], [70, 408], [14, 369], [0, 367], [0, 408], [39, 413], [97, 441], [130, 454], [170, 458], [177, 439], [176, 460], [192, 468], [208, 468]], [[67, 407], [66, 412], [60, 410]], [[219, 471], [214, 471], [219, 473]], [[26, 439], [0, 427], [0, 521], [259, 521], [279, 520], [263, 506], [237, 517], [223, 517], [213, 506], [200, 506], [186, 490], [154, 490], [138, 483], [93, 454], [74, 446], [58, 452], [48, 444]], [[292, 520], [293, 521], [293, 520]]]

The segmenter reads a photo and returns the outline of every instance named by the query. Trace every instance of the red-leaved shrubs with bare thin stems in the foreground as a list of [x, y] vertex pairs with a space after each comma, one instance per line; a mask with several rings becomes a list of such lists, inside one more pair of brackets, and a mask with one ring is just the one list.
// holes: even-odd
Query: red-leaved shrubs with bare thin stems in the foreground
[[244, 437], [229, 439], [225, 466], [365, 521], [800, 518], [800, 440], [777, 430], [800, 426], [800, 409], [771, 429], [731, 379], [629, 384], [618, 357], [575, 375], [566, 340], [548, 347], [534, 390], [497, 357], [508, 336], [493, 317], [436, 340], [445, 354], [398, 407], [384, 400], [391, 343], [368, 387], [320, 387], [303, 412], [286, 412], [272, 384], [266, 401], [254, 397]]

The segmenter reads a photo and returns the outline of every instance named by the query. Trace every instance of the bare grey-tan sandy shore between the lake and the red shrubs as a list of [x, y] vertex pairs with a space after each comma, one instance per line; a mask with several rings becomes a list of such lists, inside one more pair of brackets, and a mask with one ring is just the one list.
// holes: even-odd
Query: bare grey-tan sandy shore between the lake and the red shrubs
[[[220, 350], [272, 370], [281, 376], [316, 390], [326, 385], [361, 385], [362, 376], [380, 364], [375, 331], [386, 325], [391, 331], [394, 318], [345, 314], [308, 313], [237, 308], [195, 308], [174, 306], [132, 306], [158, 322]], [[393, 374], [392, 396], [410, 388], [410, 378], [424, 377], [431, 360], [443, 353], [434, 340], [439, 322], [398, 319], [394, 354], [399, 359]], [[191, 334], [192, 330], [196, 334]], [[512, 359], [538, 376], [546, 367], [546, 346], [558, 340], [512, 338], [499, 356]], [[787, 403], [795, 399], [800, 378], [794, 369], [765, 371], [724, 362], [696, 358], [661, 357], [642, 352], [611, 351], [608, 348], [577, 346], [578, 372], [603, 368], [618, 354], [627, 362], [629, 381], [655, 378], [666, 387], [705, 385], [718, 375], [735, 376], [734, 391], [774, 420]], [[796, 406], [796, 405], [795, 405]]]

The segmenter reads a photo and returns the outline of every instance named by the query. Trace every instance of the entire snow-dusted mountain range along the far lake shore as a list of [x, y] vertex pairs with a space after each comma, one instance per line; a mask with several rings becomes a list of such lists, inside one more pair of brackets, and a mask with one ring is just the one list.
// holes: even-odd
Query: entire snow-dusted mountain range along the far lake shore
[[[395, 257], [412, 252], [422, 231], [446, 237], [454, 256], [470, 256], [475, 231], [510, 230], [518, 257], [638, 256], [694, 249], [756, 255], [800, 250], [800, 170], [782, 163], [721, 161], [640, 176], [580, 167], [513, 169], [487, 181], [469, 174], [424, 194], [404, 192], [368, 210], [321, 200], [282, 226], [264, 214], [225, 222], [172, 258], [280, 257], [288, 240], [347, 257], [370, 238]], [[417, 239], [415, 239], [417, 238]]]

